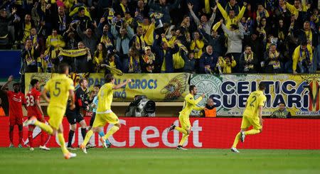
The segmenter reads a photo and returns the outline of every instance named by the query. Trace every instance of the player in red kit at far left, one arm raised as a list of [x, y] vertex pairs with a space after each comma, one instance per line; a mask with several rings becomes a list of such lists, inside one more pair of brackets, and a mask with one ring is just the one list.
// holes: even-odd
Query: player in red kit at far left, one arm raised
[[14, 80], [14, 77], [11, 75], [8, 78], [8, 82], [1, 87], [1, 91], [6, 92], [9, 101], [9, 138], [10, 138], [10, 148], [14, 147], [14, 125], [18, 125], [19, 130], [19, 143], [18, 147], [22, 148], [22, 104], [26, 107], [26, 100], [24, 94], [20, 92], [20, 83], [14, 83], [14, 91], [9, 91], [6, 89], [8, 84]]

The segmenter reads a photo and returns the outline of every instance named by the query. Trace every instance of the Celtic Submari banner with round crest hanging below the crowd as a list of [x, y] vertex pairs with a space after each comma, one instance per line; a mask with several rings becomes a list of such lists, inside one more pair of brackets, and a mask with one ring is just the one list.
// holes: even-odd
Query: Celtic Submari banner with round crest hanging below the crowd
[[[250, 92], [265, 82], [267, 102], [263, 115], [270, 116], [284, 103], [292, 116], [320, 115], [320, 74], [310, 75], [193, 75], [191, 85], [198, 87], [198, 96], [206, 97], [199, 103], [204, 106], [213, 98], [217, 115], [241, 116]], [[196, 98], [198, 97], [196, 96]], [[194, 113], [198, 114], [198, 113]]]

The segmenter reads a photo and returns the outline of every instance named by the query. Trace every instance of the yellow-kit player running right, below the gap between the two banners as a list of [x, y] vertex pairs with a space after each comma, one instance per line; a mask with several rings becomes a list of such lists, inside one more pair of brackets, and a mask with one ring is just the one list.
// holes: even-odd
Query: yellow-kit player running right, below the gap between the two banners
[[168, 131], [173, 131], [174, 129], [176, 129], [177, 131], [183, 134], [179, 145], [176, 147], [176, 149], [178, 150], [187, 150], [182, 146], [183, 143], [186, 142], [186, 140], [188, 139], [189, 134], [191, 133], [191, 123], [189, 120], [189, 115], [191, 111], [201, 111], [203, 109], [206, 109], [205, 107], [196, 106], [203, 99], [203, 97], [205, 97], [205, 94], [202, 94], [201, 97], [198, 97], [198, 99], [193, 99], [193, 97], [197, 94], [197, 87], [195, 85], [190, 85], [189, 92], [190, 93], [187, 94], [184, 98], [183, 109], [179, 113], [179, 122], [181, 124], [181, 127], [171, 124], [171, 126], [168, 129]]

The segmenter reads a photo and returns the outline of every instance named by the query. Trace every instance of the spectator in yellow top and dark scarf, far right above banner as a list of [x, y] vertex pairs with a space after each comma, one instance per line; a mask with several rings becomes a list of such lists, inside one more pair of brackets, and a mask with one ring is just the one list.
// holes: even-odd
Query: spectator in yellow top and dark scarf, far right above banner
[[297, 67], [300, 73], [311, 73], [312, 56], [312, 48], [306, 41], [297, 46], [292, 55], [292, 70], [294, 75], [297, 75]]

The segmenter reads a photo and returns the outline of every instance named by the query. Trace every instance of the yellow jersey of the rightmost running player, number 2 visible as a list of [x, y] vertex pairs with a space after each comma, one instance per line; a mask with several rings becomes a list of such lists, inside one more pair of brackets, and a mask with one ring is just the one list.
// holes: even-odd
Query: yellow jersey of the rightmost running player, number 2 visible
[[265, 94], [263, 94], [262, 91], [257, 90], [255, 92], [251, 92], [249, 98], [247, 99], [247, 106], [245, 107], [243, 116], [250, 118], [258, 117], [259, 107], [265, 106], [266, 100], [267, 97], [265, 97]]

